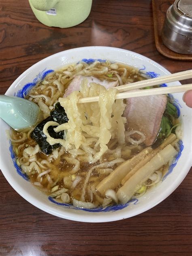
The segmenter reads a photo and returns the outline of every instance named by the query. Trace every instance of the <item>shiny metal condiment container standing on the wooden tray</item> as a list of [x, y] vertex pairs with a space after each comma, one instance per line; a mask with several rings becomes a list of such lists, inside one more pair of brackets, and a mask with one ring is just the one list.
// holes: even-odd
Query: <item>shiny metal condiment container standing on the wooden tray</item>
[[182, 54], [192, 54], [192, 0], [176, 0], [167, 10], [162, 41]]

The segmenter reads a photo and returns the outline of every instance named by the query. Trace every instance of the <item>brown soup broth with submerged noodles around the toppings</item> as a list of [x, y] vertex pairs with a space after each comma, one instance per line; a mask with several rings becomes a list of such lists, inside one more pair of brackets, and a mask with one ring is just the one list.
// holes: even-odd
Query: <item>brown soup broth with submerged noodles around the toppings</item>
[[[42, 110], [38, 122], [49, 116], [50, 111], [54, 109], [55, 104], [58, 102], [58, 98], [63, 97], [66, 88], [73, 80], [74, 76], [92, 76], [100, 79], [101, 81], [118, 81], [119, 85], [146, 79], [145, 76], [136, 68], [127, 66], [125, 64], [114, 64], [107, 61], [100, 62], [92, 69], [89, 69], [90, 65], [86, 64], [85, 62], [68, 65], [47, 75], [43, 81], [38, 83], [32, 88], [32, 90], [30, 90], [26, 98], [36, 102], [36, 104], [38, 104]], [[100, 75], [98, 71], [105, 67], [108, 69], [107, 73], [104, 72], [104, 74]], [[178, 119], [172, 117], [171, 124], [175, 126], [177, 123]], [[122, 164], [122, 162], [131, 159], [133, 156], [136, 156], [139, 152], [146, 148], [144, 143], [137, 145], [131, 144], [128, 141], [126, 141], [124, 145], [119, 145], [117, 139], [114, 138], [111, 139], [107, 144], [109, 150], [102, 155], [100, 160], [96, 162], [89, 162], [87, 160], [88, 153], [86, 154], [86, 152], [84, 152], [84, 154], [81, 154], [80, 151], [85, 151], [85, 149], [82, 147], [77, 149], [80, 150], [78, 151], [80, 152], [78, 154], [76, 154], [77, 152], [75, 153], [75, 149], [73, 149], [72, 152], [70, 150], [65, 151], [63, 147], [58, 147], [57, 149], [53, 149], [52, 153], [49, 155], [46, 155], [41, 151], [30, 155], [25, 153], [25, 149], [30, 147], [34, 148], [37, 145], [36, 142], [30, 137], [30, 133], [34, 127], [30, 127], [29, 129], [22, 131], [11, 130], [11, 140], [13, 150], [17, 156], [17, 164], [21, 166], [22, 171], [28, 175], [31, 183], [46, 194], [52, 195], [52, 197], [54, 197], [58, 202], [63, 202], [62, 198], [65, 198], [65, 194], [69, 195], [69, 199], [64, 199], [64, 203], [73, 204], [74, 198], [78, 201], [82, 201], [83, 187], [85, 187], [85, 202], [94, 203], [95, 207], [99, 205], [105, 206], [104, 198], [109, 198], [109, 196], [102, 195], [97, 191], [96, 187], [98, 184], [109, 176], [117, 166]], [[164, 140], [164, 137], [157, 138], [153, 148], [160, 145], [162, 140]], [[91, 145], [90, 147], [93, 148], [93, 146], [94, 145]], [[178, 147], [178, 145], [175, 144], [175, 147], [176, 146]], [[141, 157], [140, 160], [143, 160], [144, 157], [145, 156]], [[73, 171], [76, 164], [76, 162], [73, 162], [75, 161], [74, 159], [80, 163], [77, 171]], [[117, 160], [117, 162], [113, 164], [113, 161], [115, 160]], [[34, 168], [31, 170], [29, 168], [24, 168], [25, 166], [30, 166], [30, 164], [33, 162], [35, 163]], [[108, 166], [104, 165], [97, 167], [99, 164], [107, 162], [109, 163]], [[96, 166], [95, 169], [94, 166]], [[92, 173], [85, 186], [85, 179], [91, 168]], [[168, 163], [163, 165], [162, 168], [158, 170], [158, 175], [162, 177], [168, 168]], [[153, 180], [147, 179], [144, 185], [145, 190], [150, 188], [150, 186], [146, 186], [147, 184], [150, 185], [150, 183], [153, 183]], [[121, 186], [122, 184], [119, 182], [118, 186], [113, 188], [113, 190], [117, 192]], [[63, 197], [61, 197], [61, 194], [56, 196], [53, 195], [62, 188], [66, 189]], [[140, 190], [141, 188], [142, 187], [140, 186]], [[134, 196], [137, 197], [142, 193], [142, 191], [139, 193], [139, 190], [137, 190]], [[111, 201], [109, 200], [109, 204], [113, 203], [115, 203], [115, 201], [112, 198]]]

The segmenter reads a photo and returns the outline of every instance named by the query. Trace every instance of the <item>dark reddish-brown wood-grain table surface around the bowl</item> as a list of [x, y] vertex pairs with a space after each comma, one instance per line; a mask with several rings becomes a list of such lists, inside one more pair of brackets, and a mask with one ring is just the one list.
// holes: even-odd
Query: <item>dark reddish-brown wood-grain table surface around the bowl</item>
[[[192, 62], [171, 60], [156, 50], [150, 0], [94, 0], [89, 17], [66, 29], [41, 24], [27, 0], [0, 0], [0, 94], [39, 60], [91, 45], [135, 51], [173, 73], [192, 68]], [[64, 220], [37, 209], [0, 173], [0, 255], [191, 256], [192, 169], [153, 209], [97, 224]]]

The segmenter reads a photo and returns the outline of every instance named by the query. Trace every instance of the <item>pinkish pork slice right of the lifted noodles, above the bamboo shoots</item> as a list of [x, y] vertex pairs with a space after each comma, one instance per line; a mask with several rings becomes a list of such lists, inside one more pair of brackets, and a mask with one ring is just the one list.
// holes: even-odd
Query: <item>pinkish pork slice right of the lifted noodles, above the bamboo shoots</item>
[[160, 130], [162, 115], [166, 108], [167, 97], [165, 95], [152, 95], [126, 99], [124, 117], [127, 119], [127, 128], [139, 130], [146, 136], [146, 146], [150, 146], [156, 140]]

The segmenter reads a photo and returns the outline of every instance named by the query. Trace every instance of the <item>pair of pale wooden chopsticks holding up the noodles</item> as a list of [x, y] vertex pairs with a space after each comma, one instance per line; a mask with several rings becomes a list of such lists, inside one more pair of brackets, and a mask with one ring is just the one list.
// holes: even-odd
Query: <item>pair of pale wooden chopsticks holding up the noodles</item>
[[[166, 75], [163, 77], [156, 77], [152, 79], [138, 81], [135, 83], [128, 83], [128, 84], [120, 85], [113, 88], [118, 90], [119, 92], [116, 94], [116, 99], [125, 99], [125, 98], [141, 97], [141, 96], [158, 95], [158, 94], [168, 94], [168, 93], [176, 93], [176, 92], [186, 92], [188, 90], [192, 90], [192, 84], [177, 85], [177, 86], [171, 86], [171, 87], [159, 87], [159, 88], [153, 88], [153, 89], [138, 90], [134, 92], [129, 92], [129, 91], [135, 90], [135, 89], [141, 89], [147, 86], [159, 85], [162, 83], [181, 81], [189, 78], [192, 78], [192, 70], [186, 70], [183, 72], [178, 72], [178, 73]], [[79, 99], [78, 103], [96, 102], [98, 100], [99, 100], [98, 96], [86, 97], [86, 98]]]

